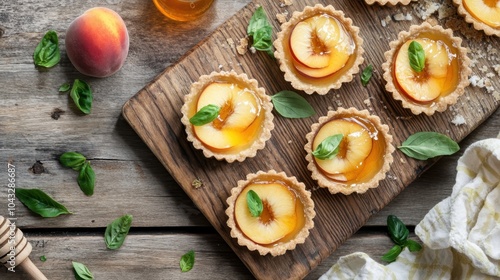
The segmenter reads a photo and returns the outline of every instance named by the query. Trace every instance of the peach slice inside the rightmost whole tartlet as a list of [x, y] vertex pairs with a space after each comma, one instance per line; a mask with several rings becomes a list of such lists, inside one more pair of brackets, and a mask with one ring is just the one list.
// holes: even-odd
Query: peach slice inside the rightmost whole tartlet
[[417, 73], [411, 68], [408, 59], [408, 47], [412, 41], [404, 43], [399, 49], [394, 65], [396, 80], [409, 98], [417, 102], [431, 102], [439, 97], [445, 87], [449, 52], [441, 41], [415, 39], [425, 53], [424, 70]]

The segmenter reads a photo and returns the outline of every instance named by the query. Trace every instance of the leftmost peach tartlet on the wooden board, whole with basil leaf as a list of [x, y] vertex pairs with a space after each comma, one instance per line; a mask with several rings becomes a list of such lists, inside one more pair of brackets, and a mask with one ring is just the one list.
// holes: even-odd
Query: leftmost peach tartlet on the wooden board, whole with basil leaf
[[[213, 110], [205, 110], [215, 108]], [[227, 162], [254, 157], [271, 138], [273, 105], [254, 79], [236, 72], [213, 72], [201, 76], [184, 98], [182, 123], [187, 139], [206, 157]], [[211, 113], [212, 118], [204, 123]], [[199, 118], [201, 116], [201, 118]]]

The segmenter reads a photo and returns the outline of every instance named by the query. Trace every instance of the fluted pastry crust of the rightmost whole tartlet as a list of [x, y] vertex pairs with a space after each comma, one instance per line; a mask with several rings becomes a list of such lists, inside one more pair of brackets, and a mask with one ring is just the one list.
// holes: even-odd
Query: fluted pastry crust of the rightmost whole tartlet
[[[458, 63], [458, 83], [455, 90], [446, 96], [440, 96], [432, 102], [431, 105], [428, 104], [418, 104], [411, 101], [398, 90], [396, 86], [395, 78], [392, 74], [392, 69], [394, 67], [394, 62], [400, 47], [408, 40], [417, 38], [421, 33], [435, 33], [444, 36], [451, 41], [453, 47], [457, 50], [456, 59], [459, 60]], [[461, 46], [462, 39], [453, 36], [453, 31], [451, 29], [444, 29], [442, 26], [435, 25], [432, 26], [428, 22], [424, 22], [421, 25], [410, 26], [409, 31], [401, 31], [398, 34], [398, 39], [389, 43], [390, 50], [385, 52], [386, 61], [382, 64], [382, 69], [384, 70], [383, 78], [386, 81], [385, 89], [392, 93], [395, 100], [402, 102], [404, 108], [410, 109], [415, 115], [425, 113], [428, 116], [433, 115], [436, 111], [443, 112], [449, 105], [453, 105], [457, 102], [457, 99], [464, 94], [464, 89], [469, 85], [469, 75], [472, 73], [470, 65], [470, 59], [467, 56], [467, 49]]]

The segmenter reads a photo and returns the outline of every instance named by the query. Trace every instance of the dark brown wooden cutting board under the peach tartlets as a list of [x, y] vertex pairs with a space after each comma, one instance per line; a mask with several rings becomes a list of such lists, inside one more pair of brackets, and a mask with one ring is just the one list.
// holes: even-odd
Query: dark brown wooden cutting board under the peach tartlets
[[[437, 113], [432, 117], [413, 116], [385, 92], [380, 67], [389, 41], [396, 38], [399, 31], [407, 30], [410, 22], [392, 22], [383, 28], [381, 19], [395, 14], [397, 8], [368, 6], [363, 1], [335, 1], [335, 7], [343, 10], [361, 29], [360, 34], [365, 40], [365, 63], [362, 67], [368, 63], [375, 66], [374, 77], [369, 85], [363, 87], [357, 75], [351, 83], [344, 84], [339, 90], [326, 96], [303, 94], [317, 114], [307, 119], [285, 119], [275, 115], [276, 128], [272, 132], [273, 136], [266, 148], [259, 151], [255, 158], [231, 164], [213, 158], [206, 159], [201, 151], [195, 150], [186, 140], [184, 126], [180, 122], [180, 108], [190, 85], [201, 75], [234, 69], [258, 80], [259, 85], [264, 87], [268, 94], [292, 90], [289, 83], [284, 81], [277, 61], [265, 53], [239, 55], [228, 40], [238, 42], [246, 36], [246, 27], [257, 3], [264, 6], [276, 34], [279, 30], [279, 23], [275, 20], [277, 13], [288, 11], [291, 14], [296, 10], [301, 11], [308, 4], [318, 2], [328, 4], [332, 1], [295, 0], [289, 7], [280, 7], [279, 1], [250, 3], [178, 63], [157, 76], [123, 107], [123, 115], [133, 129], [259, 279], [303, 278], [356, 232], [372, 214], [388, 204], [433, 163], [412, 160], [396, 151], [388, 177], [377, 189], [350, 196], [331, 195], [324, 189], [318, 189], [306, 168], [303, 147], [311, 124], [329, 109], [351, 106], [369, 109], [390, 126], [394, 145], [398, 146], [418, 131], [437, 131], [460, 141], [498, 108], [498, 103], [495, 104], [491, 95], [478, 88], [469, 87], [459, 105], [447, 112]], [[498, 40], [493, 43], [496, 44], [494, 47], [500, 48]], [[498, 84], [495, 86], [499, 88]], [[367, 103], [367, 100], [370, 103]], [[467, 123], [461, 126], [453, 125], [451, 120], [455, 114], [464, 116]], [[248, 173], [269, 169], [284, 171], [304, 182], [313, 191], [312, 198], [317, 213], [314, 219], [315, 227], [306, 242], [279, 257], [262, 257], [256, 252], [248, 251], [246, 247], [239, 246], [229, 235], [224, 213], [227, 207], [226, 198], [238, 180], [244, 179]], [[195, 179], [201, 180], [203, 187], [194, 188], [192, 182]]]

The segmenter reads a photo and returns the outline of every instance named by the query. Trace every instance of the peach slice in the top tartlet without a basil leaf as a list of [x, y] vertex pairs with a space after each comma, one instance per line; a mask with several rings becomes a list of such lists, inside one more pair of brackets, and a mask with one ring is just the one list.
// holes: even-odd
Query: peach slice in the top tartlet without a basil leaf
[[299, 22], [290, 35], [290, 48], [295, 58], [310, 68], [327, 67], [331, 49], [340, 38], [335, 19], [315, 16]]

